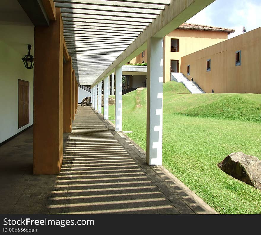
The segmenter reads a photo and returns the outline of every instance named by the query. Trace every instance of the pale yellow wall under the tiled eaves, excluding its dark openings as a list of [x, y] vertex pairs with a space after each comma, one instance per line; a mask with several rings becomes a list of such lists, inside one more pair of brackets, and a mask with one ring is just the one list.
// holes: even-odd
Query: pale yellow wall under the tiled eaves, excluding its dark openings
[[[171, 39], [179, 39], [179, 52], [171, 52]], [[164, 37], [163, 44], [163, 82], [170, 80], [171, 60], [199, 51], [203, 48], [227, 40], [227, 32], [175, 29]]]

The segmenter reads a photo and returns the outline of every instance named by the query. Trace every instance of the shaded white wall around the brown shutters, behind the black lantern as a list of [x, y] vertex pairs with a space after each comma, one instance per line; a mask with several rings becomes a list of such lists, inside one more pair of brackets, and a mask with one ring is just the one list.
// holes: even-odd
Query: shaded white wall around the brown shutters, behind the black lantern
[[[33, 124], [34, 71], [26, 69], [22, 58], [27, 44], [34, 41], [34, 27], [0, 25], [0, 143]], [[26, 38], [30, 38], [27, 40]], [[20, 39], [20, 42], [19, 42]], [[17, 40], [17, 42], [15, 42]], [[25, 43], [24, 43], [25, 42]], [[31, 44], [32, 45], [32, 44]], [[23, 53], [19, 50], [24, 48]], [[32, 45], [33, 49], [33, 45]], [[33, 55], [33, 50], [31, 50]], [[29, 81], [30, 122], [18, 129], [18, 79]]]

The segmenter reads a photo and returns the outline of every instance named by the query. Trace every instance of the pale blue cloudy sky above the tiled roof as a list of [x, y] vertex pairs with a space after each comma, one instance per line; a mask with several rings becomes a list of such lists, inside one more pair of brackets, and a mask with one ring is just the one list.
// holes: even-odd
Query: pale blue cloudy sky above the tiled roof
[[187, 20], [222, 28], [235, 29], [228, 38], [261, 27], [261, 0], [216, 0], [198, 14]]

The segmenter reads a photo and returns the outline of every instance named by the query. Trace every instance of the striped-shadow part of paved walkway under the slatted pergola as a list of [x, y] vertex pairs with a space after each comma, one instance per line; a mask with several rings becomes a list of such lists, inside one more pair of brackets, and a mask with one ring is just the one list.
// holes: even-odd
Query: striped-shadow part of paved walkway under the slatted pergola
[[50, 213], [213, 213], [90, 107], [80, 107]]

